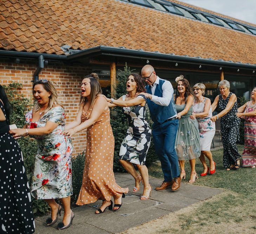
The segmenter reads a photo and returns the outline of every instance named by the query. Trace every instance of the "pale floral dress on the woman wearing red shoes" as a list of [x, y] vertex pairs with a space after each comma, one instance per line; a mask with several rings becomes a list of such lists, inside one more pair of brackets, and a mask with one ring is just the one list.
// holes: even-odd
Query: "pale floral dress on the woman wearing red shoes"
[[[193, 112], [194, 113], [204, 112], [205, 101], [206, 101], [206, 98], [204, 98], [204, 100], [199, 103], [196, 103], [196, 100], [194, 100]], [[199, 127], [199, 134], [200, 134], [199, 139], [200, 139], [201, 151], [210, 151], [211, 149], [211, 142], [215, 134], [215, 122], [211, 121], [211, 117], [212, 117], [212, 110], [210, 107], [208, 116], [196, 118], [198, 122], [198, 127]]]

